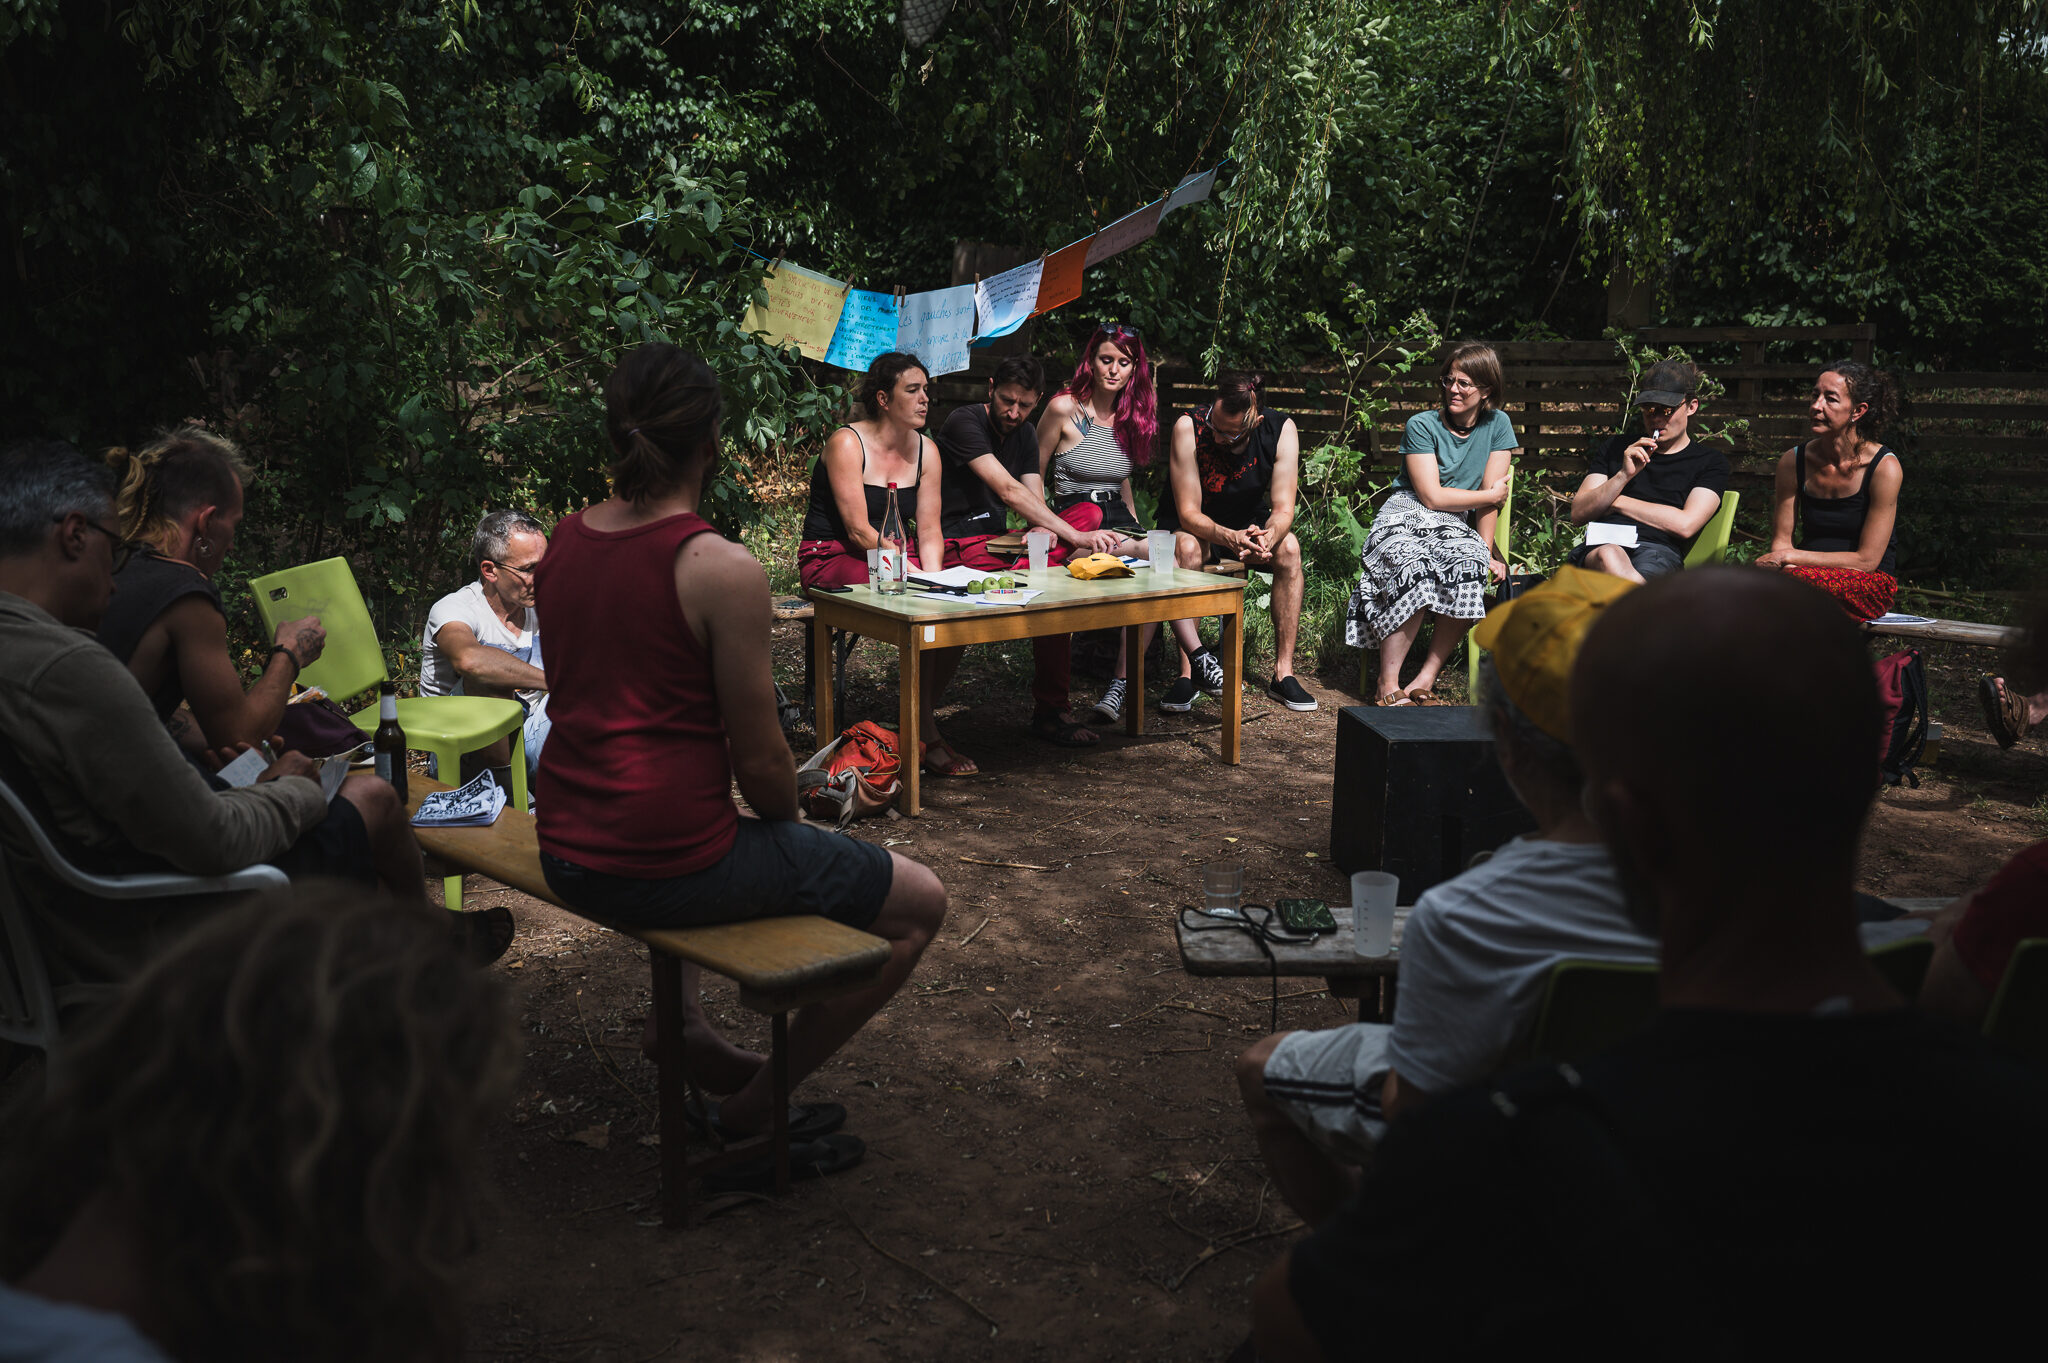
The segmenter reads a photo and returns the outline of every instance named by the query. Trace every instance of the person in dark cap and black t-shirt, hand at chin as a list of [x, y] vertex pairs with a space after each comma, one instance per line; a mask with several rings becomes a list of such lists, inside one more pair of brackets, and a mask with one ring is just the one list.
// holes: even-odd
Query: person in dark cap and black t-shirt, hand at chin
[[1642, 434], [1612, 436], [1593, 454], [1593, 469], [1571, 497], [1571, 524], [1620, 526], [1634, 544], [1595, 544], [1595, 532], [1571, 551], [1571, 563], [1630, 581], [1686, 567], [1686, 551], [1720, 510], [1729, 489], [1729, 456], [1686, 434], [1700, 411], [1700, 370], [1686, 360], [1661, 360], [1642, 381], [1634, 405]]

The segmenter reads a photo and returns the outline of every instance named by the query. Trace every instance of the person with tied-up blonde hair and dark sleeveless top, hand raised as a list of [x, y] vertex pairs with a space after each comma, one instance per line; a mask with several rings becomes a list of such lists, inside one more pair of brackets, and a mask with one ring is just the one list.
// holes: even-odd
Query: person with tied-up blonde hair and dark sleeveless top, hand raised
[[328, 632], [319, 616], [279, 624], [262, 675], [244, 690], [213, 577], [236, 546], [248, 460], [231, 440], [180, 426], [141, 450], [106, 450], [106, 465], [121, 483], [115, 510], [133, 553], [115, 575], [100, 643], [135, 673], [186, 751], [262, 743]]

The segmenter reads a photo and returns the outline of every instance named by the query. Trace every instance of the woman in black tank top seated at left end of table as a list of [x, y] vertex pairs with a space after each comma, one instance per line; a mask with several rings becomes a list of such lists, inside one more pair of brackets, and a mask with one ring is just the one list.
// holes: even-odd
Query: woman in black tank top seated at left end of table
[[[797, 577], [805, 587], [868, 587], [868, 551], [881, 544], [889, 483], [897, 485], [897, 512], [909, 522], [905, 532], [911, 542], [905, 548], [911, 569], [946, 561], [942, 460], [924, 436], [932, 405], [930, 383], [913, 354], [891, 350], [868, 364], [860, 381], [860, 405], [868, 415], [831, 432], [825, 452], [811, 469], [811, 501], [803, 516], [803, 540], [797, 544]], [[979, 772], [971, 757], [946, 743], [932, 716], [961, 667], [961, 653], [965, 649], [924, 651], [918, 747], [924, 770], [932, 776]]]

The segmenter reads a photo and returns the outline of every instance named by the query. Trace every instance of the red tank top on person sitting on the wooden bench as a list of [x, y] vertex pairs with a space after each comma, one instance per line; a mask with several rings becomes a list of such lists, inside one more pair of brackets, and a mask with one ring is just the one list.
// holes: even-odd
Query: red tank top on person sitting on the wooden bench
[[535, 573], [547, 620], [547, 747], [532, 796], [541, 851], [659, 880], [723, 858], [739, 825], [711, 653], [676, 602], [676, 553], [711, 524], [555, 526]]

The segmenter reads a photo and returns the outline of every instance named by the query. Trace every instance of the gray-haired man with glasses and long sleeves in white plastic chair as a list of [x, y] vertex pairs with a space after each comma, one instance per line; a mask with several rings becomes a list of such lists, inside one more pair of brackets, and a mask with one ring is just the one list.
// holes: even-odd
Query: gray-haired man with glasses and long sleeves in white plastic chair
[[[240, 790], [193, 765], [92, 636], [127, 555], [106, 465], [59, 440], [0, 450], [0, 770], [43, 806], [51, 837], [113, 870], [221, 876], [268, 862], [424, 898], [420, 847], [387, 782], [352, 776], [330, 804], [301, 753]], [[123, 978], [219, 903], [90, 900], [33, 864], [18, 884], [63, 982]]]

